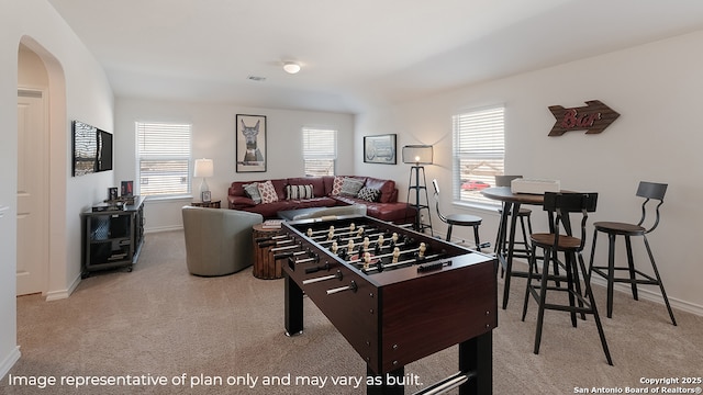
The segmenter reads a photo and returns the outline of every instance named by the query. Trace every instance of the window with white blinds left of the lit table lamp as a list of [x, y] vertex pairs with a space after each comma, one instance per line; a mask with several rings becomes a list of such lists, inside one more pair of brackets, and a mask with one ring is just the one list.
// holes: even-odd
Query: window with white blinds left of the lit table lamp
[[191, 128], [188, 124], [136, 123], [141, 195], [190, 193]]

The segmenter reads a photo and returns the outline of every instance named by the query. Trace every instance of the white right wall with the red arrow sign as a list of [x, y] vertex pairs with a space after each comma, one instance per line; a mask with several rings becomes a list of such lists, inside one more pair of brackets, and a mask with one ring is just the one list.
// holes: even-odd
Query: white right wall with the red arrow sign
[[[451, 115], [462, 109], [505, 103], [506, 172], [557, 179], [563, 189], [599, 192], [593, 221], [636, 222], [641, 202], [635, 198], [637, 183], [669, 183], [662, 222], [649, 240], [672, 304], [701, 314], [703, 266], [696, 246], [703, 223], [703, 206], [698, 202], [703, 194], [703, 136], [698, 122], [703, 53], [692, 48], [702, 44], [703, 32], [696, 32], [364, 114], [357, 117], [357, 150], [364, 135], [379, 132], [401, 133], [399, 147], [434, 144], [437, 165], [427, 168], [427, 178], [450, 185]], [[600, 135], [569, 132], [561, 137], [547, 136], [555, 123], [549, 105], [581, 106], [588, 100], [603, 101], [621, 117]], [[408, 185], [408, 176], [399, 178], [409, 172], [406, 166], [357, 162], [356, 167], [359, 173], [375, 171], [404, 182], [401, 188]], [[453, 206], [450, 200], [443, 196], [445, 211], [469, 212]], [[482, 238], [492, 240], [498, 217], [489, 212], [473, 213], [484, 218]], [[539, 218], [539, 212], [533, 216]], [[437, 222], [435, 217], [435, 227]], [[537, 222], [546, 226], [544, 221]], [[457, 229], [458, 235], [462, 233], [468, 236], [468, 229]], [[646, 269], [644, 246], [641, 240], [636, 242], [636, 264]], [[618, 248], [623, 252], [624, 247]], [[606, 239], [601, 236], [598, 259], [606, 259]], [[622, 261], [624, 256], [617, 259]]]

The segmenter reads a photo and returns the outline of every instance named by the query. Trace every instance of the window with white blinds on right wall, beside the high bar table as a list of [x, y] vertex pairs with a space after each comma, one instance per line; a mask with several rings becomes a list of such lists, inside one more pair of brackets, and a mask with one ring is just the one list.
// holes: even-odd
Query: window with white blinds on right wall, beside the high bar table
[[459, 202], [498, 205], [481, 190], [494, 187], [504, 172], [504, 108], [495, 106], [453, 116], [454, 196]]

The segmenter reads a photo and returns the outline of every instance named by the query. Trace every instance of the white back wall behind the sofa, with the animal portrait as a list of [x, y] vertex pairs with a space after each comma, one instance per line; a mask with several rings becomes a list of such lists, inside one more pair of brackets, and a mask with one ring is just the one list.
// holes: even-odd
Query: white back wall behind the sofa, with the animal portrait
[[[182, 103], [137, 99], [118, 99], [115, 103], [115, 180], [135, 180], [135, 133], [137, 121], [185, 122], [193, 126], [193, 158], [210, 158], [214, 177], [208, 179], [213, 200], [226, 206], [227, 188], [233, 181], [298, 177], [303, 174], [303, 126], [334, 128], [338, 139], [337, 173], [352, 173], [354, 169], [354, 116], [313, 111], [288, 111], [243, 108], [228, 104]], [[235, 171], [236, 114], [266, 115], [268, 165], [266, 172], [237, 173]], [[194, 179], [198, 191], [201, 179]], [[186, 200], [152, 200], [145, 203], [146, 232], [180, 228], [180, 207]]]

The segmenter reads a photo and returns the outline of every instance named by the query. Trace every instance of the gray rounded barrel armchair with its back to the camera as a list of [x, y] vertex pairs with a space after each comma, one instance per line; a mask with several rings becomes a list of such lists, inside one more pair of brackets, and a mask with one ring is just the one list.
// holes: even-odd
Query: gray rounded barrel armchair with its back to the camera
[[260, 214], [193, 206], [181, 213], [191, 274], [232, 274], [254, 262], [252, 227], [264, 221]]

